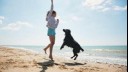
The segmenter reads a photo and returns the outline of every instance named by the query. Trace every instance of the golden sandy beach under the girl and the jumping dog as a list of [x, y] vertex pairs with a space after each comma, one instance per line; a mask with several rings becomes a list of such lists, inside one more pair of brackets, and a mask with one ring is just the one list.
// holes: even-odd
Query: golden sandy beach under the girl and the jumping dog
[[127, 66], [58, 57], [50, 61], [45, 54], [0, 46], [0, 72], [127, 72]]

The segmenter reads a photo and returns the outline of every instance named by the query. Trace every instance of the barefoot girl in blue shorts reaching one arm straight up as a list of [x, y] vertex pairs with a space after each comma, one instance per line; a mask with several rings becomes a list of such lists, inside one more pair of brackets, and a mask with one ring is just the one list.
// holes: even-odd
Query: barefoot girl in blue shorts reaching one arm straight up
[[45, 53], [46, 53], [46, 50], [50, 48], [49, 58], [51, 60], [53, 60], [52, 50], [55, 44], [55, 35], [56, 35], [55, 29], [59, 24], [59, 19], [56, 20], [55, 17], [56, 17], [56, 11], [53, 10], [53, 0], [51, 0], [51, 10], [48, 11], [47, 17], [46, 17], [46, 21], [48, 22], [47, 27], [48, 27], [48, 36], [49, 36], [50, 44], [46, 48], [44, 48]]

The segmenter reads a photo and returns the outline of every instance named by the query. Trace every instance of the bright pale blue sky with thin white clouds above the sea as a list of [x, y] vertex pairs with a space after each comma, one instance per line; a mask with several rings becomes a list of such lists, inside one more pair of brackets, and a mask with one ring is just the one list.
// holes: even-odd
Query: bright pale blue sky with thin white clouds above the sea
[[[0, 45], [47, 45], [50, 0], [0, 0]], [[56, 46], [70, 29], [83, 46], [127, 45], [127, 0], [54, 0]]]

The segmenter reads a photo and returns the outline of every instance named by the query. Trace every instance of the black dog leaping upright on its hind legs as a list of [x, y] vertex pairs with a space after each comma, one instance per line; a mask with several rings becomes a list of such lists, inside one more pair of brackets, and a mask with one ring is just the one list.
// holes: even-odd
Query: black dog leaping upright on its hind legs
[[64, 38], [64, 43], [62, 44], [61, 48], [64, 48], [64, 46], [68, 46], [73, 48], [73, 53], [74, 56], [71, 58], [74, 58], [74, 60], [76, 60], [76, 58], [78, 57], [78, 53], [81, 51], [84, 51], [81, 46], [73, 39], [72, 35], [71, 35], [71, 31], [69, 29], [63, 29], [63, 31], [65, 32], [65, 38]]

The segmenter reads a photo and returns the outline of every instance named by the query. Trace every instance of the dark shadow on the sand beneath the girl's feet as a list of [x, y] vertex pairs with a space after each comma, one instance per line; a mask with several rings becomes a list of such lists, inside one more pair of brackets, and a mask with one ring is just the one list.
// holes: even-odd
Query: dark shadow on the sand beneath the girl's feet
[[45, 62], [39, 62], [37, 64], [42, 66], [42, 70], [40, 72], [46, 72], [48, 67], [52, 67], [55, 63], [54, 63], [54, 61], [49, 60], [49, 61], [45, 61]]

